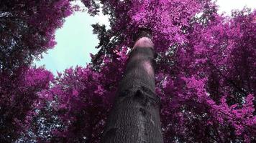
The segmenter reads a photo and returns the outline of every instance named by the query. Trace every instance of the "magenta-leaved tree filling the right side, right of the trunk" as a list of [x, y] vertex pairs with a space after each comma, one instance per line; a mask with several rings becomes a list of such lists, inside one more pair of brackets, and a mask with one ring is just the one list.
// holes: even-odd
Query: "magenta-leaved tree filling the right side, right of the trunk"
[[191, 142], [255, 142], [254, 19], [247, 9], [232, 18], [203, 14], [189, 29], [189, 42], [170, 54], [173, 68], [160, 66], [173, 74], [159, 74], [170, 142], [175, 137], [168, 134]]

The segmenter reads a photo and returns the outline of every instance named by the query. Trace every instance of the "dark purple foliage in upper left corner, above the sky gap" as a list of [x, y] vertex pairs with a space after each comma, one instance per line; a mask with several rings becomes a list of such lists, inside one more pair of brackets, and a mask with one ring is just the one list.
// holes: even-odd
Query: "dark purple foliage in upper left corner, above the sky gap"
[[0, 69], [12, 72], [32, 64], [42, 52], [55, 46], [55, 29], [71, 14], [68, 0], [0, 2]]

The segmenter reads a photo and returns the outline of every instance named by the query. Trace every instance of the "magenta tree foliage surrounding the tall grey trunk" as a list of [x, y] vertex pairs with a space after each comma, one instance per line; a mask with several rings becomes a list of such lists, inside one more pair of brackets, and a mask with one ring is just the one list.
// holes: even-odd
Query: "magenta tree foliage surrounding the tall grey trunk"
[[[111, 29], [93, 26], [99, 54], [91, 55], [86, 67], [66, 69], [55, 78], [42, 68], [18, 69], [15, 78], [2, 74], [1, 134], [23, 128], [38, 142], [100, 142], [134, 33], [143, 28], [152, 31], [157, 51], [156, 92], [165, 142], [255, 142], [255, 11], [224, 17], [208, 0], [83, 3], [92, 15], [102, 6], [110, 16]], [[38, 4], [24, 18], [43, 32], [43, 44], [36, 42], [43, 50], [37, 54], [54, 45], [55, 28], [70, 14], [68, 1]], [[39, 34], [27, 35], [28, 44]]]

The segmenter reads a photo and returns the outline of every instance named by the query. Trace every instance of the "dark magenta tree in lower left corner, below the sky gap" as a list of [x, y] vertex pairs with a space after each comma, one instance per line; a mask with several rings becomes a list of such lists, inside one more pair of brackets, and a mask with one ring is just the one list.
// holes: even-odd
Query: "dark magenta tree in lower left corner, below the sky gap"
[[[53, 75], [45, 69], [19, 69], [17, 77], [0, 77], [0, 141], [14, 142], [22, 132], [27, 132], [33, 107], [40, 102], [38, 92], [47, 90]], [[44, 95], [45, 96], [45, 95]]]

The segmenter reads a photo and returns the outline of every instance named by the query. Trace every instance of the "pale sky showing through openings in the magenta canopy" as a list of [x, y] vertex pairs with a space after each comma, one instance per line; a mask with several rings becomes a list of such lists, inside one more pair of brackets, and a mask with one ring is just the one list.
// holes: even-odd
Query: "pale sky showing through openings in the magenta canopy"
[[[77, 3], [83, 6], [81, 2]], [[256, 9], [256, 0], [217, 0], [219, 14], [230, 15], [232, 9], [242, 9], [247, 6]], [[99, 40], [93, 34], [91, 24], [105, 24], [109, 26], [108, 17], [103, 14], [89, 16], [86, 12], [75, 12], [65, 19], [63, 27], [56, 30], [57, 45], [42, 54], [40, 61], [34, 61], [36, 66], [45, 66], [46, 69], [57, 75], [70, 66], [86, 66], [91, 61], [90, 53], [96, 54]]]

